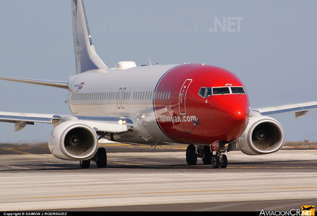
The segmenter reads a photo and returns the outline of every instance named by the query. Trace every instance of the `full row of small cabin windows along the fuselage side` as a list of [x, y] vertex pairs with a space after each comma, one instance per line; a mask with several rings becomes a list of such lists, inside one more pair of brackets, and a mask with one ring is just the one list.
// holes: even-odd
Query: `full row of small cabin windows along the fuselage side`
[[[130, 99], [131, 92], [123, 93], [124, 99]], [[133, 99], [170, 99], [171, 92], [134, 92]], [[72, 94], [72, 100], [116, 100], [118, 92], [78, 93]], [[120, 93], [119, 93], [120, 98]]]

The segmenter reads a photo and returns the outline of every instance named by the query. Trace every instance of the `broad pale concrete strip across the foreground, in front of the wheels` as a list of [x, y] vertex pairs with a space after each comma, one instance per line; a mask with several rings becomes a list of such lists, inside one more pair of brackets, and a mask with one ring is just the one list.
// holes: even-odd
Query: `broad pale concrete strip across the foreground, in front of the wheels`
[[3, 173], [0, 211], [314, 198], [316, 173]]

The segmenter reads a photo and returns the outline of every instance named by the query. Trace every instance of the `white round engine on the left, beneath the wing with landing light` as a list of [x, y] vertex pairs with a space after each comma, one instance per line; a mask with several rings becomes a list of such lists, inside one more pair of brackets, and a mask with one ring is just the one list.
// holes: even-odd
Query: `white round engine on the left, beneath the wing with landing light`
[[49, 150], [63, 160], [87, 160], [95, 155], [97, 149], [96, 132], [81, 121], [65, 121], [57, 125], [49, 139]]

